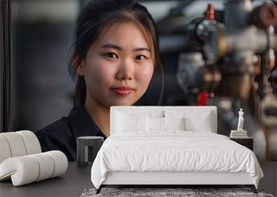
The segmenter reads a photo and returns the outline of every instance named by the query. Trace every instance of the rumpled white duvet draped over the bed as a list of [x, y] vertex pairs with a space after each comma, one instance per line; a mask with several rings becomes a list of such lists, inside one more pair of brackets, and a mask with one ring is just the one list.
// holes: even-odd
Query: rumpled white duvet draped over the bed
[[248, 172], [256, 188], [263, 177], [253, 151], [225, 135], [179, 130], [114, 133], [91, 167], [96, 188], [108, 171]]

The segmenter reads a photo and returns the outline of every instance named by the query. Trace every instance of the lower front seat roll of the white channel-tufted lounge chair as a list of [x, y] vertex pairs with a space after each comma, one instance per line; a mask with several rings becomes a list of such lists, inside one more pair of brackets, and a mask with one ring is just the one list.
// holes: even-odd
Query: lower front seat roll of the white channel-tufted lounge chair
[[14, 186], [60, 176], [68, 167], [61, 151], [7, 158], [0, 165], [0, 180], [12, 179]]

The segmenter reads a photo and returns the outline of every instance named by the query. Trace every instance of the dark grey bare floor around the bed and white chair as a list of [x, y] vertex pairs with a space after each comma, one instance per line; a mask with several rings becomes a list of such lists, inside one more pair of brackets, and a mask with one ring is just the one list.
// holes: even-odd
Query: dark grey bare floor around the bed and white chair
[[[93, 187], [90, 179], [91, 165], [80, 168], [75, 162], [69, 162], [69, 169], [62, 176], [21, 187], [13, 187], [10, 180], [1, 182], [0, 196], [80, 196], [84, 189]], [[277, 162], [260, 162], [260, 166], [265, 177], [260, 180], [259, 189], [265, 189], [267, 194], [276, 196]], [[233, 187], [233, 185], [224, 187]]]

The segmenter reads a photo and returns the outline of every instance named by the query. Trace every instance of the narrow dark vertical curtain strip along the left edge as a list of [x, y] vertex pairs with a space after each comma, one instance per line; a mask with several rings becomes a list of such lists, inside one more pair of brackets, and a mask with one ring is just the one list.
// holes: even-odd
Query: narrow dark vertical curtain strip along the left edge
[[10, 131], [11, 1], [0, 1], [0, 133]]

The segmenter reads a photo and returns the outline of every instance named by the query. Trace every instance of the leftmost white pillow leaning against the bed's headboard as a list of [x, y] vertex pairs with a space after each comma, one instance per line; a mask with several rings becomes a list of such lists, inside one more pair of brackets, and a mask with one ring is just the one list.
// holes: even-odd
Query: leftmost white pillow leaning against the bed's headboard
[[116, 113], [116, 132], [146, 131], [146, 115]]

